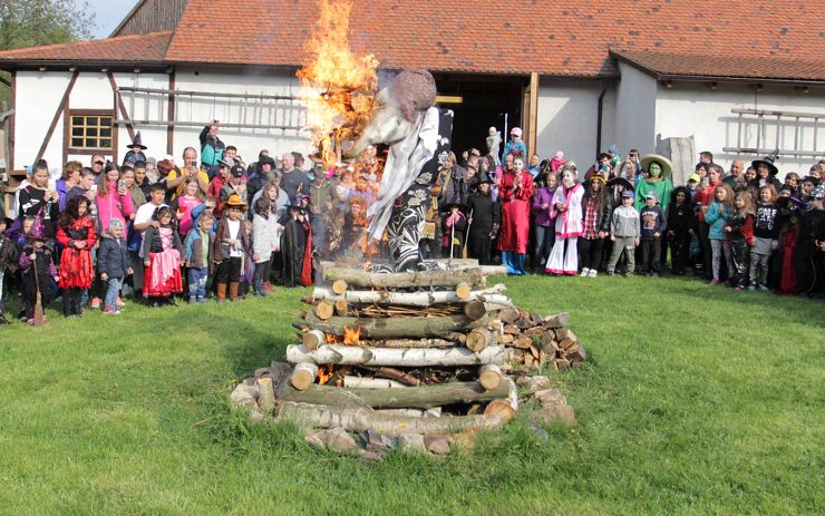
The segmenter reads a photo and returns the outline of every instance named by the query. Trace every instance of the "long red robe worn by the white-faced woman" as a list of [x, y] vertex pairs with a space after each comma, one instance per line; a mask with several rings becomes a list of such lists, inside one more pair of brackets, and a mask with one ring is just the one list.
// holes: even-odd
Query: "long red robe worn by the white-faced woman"
[[530, 199], [533, 196], [533, 176], [528, 172], [522, 172], [522, 186], [516, 189], [515, 184], [515, 173], [502, 175], [498, 187], [498, 199], [502, 203], [498, 250], [525, 254], [530, 237]]

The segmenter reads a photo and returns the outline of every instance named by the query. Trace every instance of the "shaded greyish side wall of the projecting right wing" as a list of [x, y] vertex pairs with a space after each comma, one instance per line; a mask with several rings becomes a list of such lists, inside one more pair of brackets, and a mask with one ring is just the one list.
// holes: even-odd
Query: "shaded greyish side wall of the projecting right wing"
[[623, 62], [619, 64], [619, 71], [621, 79], [617, 87], [613, 133], [615, 144], [622, 154], [630, 148], [638, 148], [641, 154], [652, 153], [656, 150], [657, 81]]

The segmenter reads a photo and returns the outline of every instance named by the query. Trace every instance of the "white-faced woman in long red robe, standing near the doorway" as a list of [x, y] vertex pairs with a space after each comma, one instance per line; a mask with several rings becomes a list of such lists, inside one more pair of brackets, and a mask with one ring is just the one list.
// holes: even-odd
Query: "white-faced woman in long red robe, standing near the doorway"
[[507, 274], [524, 275], [533, 188], [533, 176], [524, 169], [524, 159], [515, 158], [513, 168], [502, 175], [499, 186], [502, 231], [498, 234], [498, 250]]

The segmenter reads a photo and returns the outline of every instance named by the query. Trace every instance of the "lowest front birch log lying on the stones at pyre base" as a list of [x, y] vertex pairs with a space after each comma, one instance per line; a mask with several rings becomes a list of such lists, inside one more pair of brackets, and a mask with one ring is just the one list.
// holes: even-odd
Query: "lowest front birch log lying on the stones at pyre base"
[[[395, 392], [395, 391], [394, 391]], [[398, 392], [406, 392], [399, 390]], [[334, 428], [348, 431], [380, 431], [387, 436], [421, 434], [425, 436], [460, 432], [465, 430], [492, 430], [505, 421], [496, 416], [454, 416], [440, 418], [419, 418], [388, 416], [368, 408], [343, 408], [295, 403], [281, 403], [279, 417], [295, 421], [298, 425]]]

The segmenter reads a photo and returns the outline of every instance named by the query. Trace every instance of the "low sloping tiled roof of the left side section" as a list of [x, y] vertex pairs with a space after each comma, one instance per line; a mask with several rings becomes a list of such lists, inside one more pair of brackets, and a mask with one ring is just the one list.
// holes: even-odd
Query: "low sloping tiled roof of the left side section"
[[0, 66], [16, 62], [163, 64], [171, 40], [172, 32], [166, 31], [19, 48], [0, 52]]

